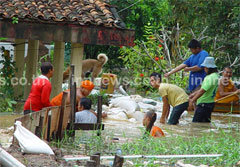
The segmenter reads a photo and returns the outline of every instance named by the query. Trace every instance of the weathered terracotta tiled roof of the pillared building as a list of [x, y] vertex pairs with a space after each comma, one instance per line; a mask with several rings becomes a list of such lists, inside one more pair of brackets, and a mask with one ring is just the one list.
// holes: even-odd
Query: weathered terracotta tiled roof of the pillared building
[[0, 19], [125, 28], [104, 0], [0, 0]]

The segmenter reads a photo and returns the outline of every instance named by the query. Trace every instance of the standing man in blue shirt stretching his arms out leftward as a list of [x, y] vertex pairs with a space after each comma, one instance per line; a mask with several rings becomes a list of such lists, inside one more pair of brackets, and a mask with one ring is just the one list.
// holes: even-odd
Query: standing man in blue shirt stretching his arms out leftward
[[171, 74], [174, 74], [182, 69], [184, 69], [185, 72], [190, 71], [188, 90], [190, 92], [193, 92], [201, 85], [204, 77], [206, 76], [206, 73], [203, 70], [201, 64], [209, 55], [208, 52], [201, 48], [200, 42], [196, 39], [192, 39], [189, 42], [188, 47], [190, 48], [192, 55], [185, 62], [183, 62], [183, 64], [164, 74], [164, 76], [168, 77]]

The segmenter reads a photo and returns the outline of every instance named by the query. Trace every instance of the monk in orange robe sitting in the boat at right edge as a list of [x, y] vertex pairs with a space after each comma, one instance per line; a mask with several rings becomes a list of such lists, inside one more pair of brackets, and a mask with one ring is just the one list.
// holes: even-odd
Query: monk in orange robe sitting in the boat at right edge
[[[225, 96], [234, 94], [237, 92], [240, 93], [240, 89], [237, 89], [234, 85], [233, 81], [231, 80], [232, 77], [232, 69], [231, 67], [225, 67], [222, 72], [222, 78], [220, 79], [217, 94], [215, 96], [215, 101], [218, 99], [221, 99]], [[238, 103], [239, 97], [238, 94], [234, 94], [228, 98], [225, 98], [223, 100], [217, 101], [216, 103]]]

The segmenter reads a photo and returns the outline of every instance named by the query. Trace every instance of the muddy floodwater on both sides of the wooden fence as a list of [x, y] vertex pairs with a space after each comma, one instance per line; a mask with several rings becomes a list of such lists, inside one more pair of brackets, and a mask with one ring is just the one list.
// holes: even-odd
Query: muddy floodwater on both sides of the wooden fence
[[[9, 129], [14, 124], [14, 120], [22, 115], [9, 113], [0, 114], [0, 143], [7, 146], [11, 143], [13, 129]], [[219, 129], [226, 132], [239, 133], [240, 130], [240, 114], [221, 114], [213, 113], [211, 123], [192, 123], [193, 113], [180, 119], [179, 125], [160, 124], [159, 118], [155, 122], [156, 126], [162, 128], [166, 137], [172, 136], [201, 136], [207, 133], [220, 133]], [[142, 122], [117, 121], [104, 119], [104, 132], [112, 133], [113, 137], [119, 139], [134, 139], [139, 138], [143, 134]]]

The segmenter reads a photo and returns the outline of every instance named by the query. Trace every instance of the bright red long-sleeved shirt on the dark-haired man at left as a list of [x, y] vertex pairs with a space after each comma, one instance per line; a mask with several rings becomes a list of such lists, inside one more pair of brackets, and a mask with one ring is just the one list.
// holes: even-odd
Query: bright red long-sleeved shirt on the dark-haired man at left
[[49, 98], [51, 94], [51, 82], [44, 75], [37, 77], [31, 87], [30, 94], [24, 104], [24, 110], [39, 111], [51, 106]]

